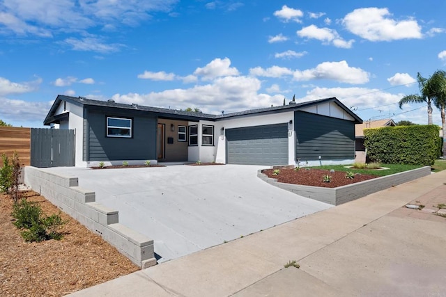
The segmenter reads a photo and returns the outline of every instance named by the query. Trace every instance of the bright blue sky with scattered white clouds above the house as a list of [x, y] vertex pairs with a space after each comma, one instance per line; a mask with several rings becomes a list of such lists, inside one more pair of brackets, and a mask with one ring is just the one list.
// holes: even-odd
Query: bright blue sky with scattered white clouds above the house
[[[0, 0], [0, 119], [58, 94], [229, 113], [337, 97], [426, 124], [417, 72], [446, 65], [445, 1]], [[440, 113], [433, 111], [440, 125]]]

